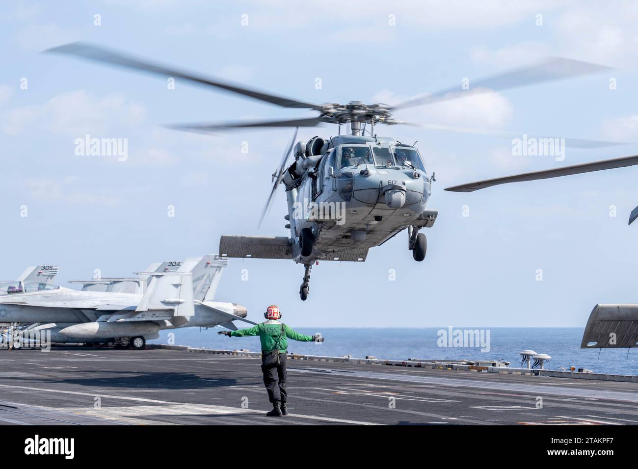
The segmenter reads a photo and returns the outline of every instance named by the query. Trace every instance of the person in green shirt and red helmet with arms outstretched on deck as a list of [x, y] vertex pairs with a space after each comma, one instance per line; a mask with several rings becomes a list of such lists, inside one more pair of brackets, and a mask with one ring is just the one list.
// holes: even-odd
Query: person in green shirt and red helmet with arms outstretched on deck
[[[263, 384], [268, 391], [268, 399], [272, 403], [272, 410], [266, 415], [269, 417], [281, 417], [288, 414], [286, 408], [286, 352], [288, 352], [288, 340], [300, 342], [323, 342], [320, 334], [306, 336], [293, 331], [290, 326], [279, 322], [281, 312], [272, 304], [263, 316], [267, 321], [257, 324], [249, 329], [239, 331], [221, 331], [228, 337], [259, 336], [262, 342], [262, 372]], [[279, 357], [277, 357], [279, 355]], [[272, 363], [271, 363], [272, 362]]]

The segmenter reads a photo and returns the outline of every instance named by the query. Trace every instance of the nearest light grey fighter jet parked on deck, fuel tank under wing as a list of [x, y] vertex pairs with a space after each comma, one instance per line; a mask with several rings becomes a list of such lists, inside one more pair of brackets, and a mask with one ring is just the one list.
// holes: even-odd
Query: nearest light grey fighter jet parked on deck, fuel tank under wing
[[[218, 255], [188, 258], [175, 271], [135, 272], [148, 279], [144, 294], [78, 291], [52, 284], [22, 288], [0, 284], [0, 321], [32, 324], [26, 331], [47, 331], [52, 342], [115, 342], [144, 348], [161, 329], [213, 327], [237, 329], [246, 308], [212, 301], [228, 260]], [[39, 323], [35, 325], [34, 323]]]

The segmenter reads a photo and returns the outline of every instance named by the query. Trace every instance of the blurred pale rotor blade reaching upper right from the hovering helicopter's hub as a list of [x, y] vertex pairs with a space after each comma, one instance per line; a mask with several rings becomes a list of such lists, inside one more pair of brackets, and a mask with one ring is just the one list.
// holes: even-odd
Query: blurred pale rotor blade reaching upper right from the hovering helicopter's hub
[[491, 77], [482, 78], [472, 82], [470, 80], [470, 89], [462, 90], [459, 86], [453, 86], [443, 89], [423, 98], [415, 98], [413, 100], [399, 103], [392, 109], [404, 109], [413, 106], [437, 103], [439, 101], [455, 100], [463, 98], [468, 94], [481, 94], [488, 91], [500, 91], [522, 86], [529, 86], [542, 82], [551, 82], [562, 80], [563, 78], [577, 77], [579, 75], [587, 75], [603, 70], [611, 70], [610, 67], [604, 65], [582, 62], [574, 59], [565, 59], [563, 57], [548, 57], [544, 61], [529, 67], [517, 68], [516, 70], [507, 71]]

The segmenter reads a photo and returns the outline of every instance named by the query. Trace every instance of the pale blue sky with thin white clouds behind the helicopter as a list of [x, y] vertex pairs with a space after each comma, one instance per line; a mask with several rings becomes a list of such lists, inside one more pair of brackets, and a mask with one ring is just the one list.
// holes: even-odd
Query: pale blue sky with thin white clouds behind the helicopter
[[[0, 277], [28, 265], [70, 279], [128, 276], [151, 262], [216, 253], [222, 234], [287, 235], [285, 195], [257, 228], [292, 129], [197, 135], [166, 124], [309, 115], [70, 57], [88, 41], [315, 103], [396, 103], [464, 78], [559, 56], [612, 67], [553, 83], [411, 108], [418, 123], [627, 142], [514, 156], [510, 140], [408, 126], [436, 172], [417, 263], [402, 233], [365, 263], [303, 268], [233, 259], [218, 301], [259, 320], [278, 304], [304, 327], [581, 326], [597, 303], [638, 301], [636, 168], [507, 184], [463, 182], [636, 154], [638, 5], [612, 1], [6, 1], [0, 6]], [[317, 83], [321, 86], [316, 86]], [[611, 86], [611, 84], [615, 86]], [[336, 134], [301, 129], [299, 139]], [[86, 134], [126, 138], [128, 158], [77, 154]], [[174, 216], [170, 216], [174, 215]], [[394, 272], [394, 280], [391, 278]]]

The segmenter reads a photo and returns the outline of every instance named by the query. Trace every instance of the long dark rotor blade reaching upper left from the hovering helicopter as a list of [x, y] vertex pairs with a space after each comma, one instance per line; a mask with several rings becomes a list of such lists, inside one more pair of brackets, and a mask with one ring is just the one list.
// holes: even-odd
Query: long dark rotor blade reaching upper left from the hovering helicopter
[[87, 43], [72, 42], [69, 44], [64, 44], [58, 47], [47, 49], [44, 52], [53, 53], [53, 54], [67, 54], [70, 56], [83, 57], [84, 59], [90, 59], [90, 60], [94, 60], [94, 61], [98, 61], [102, 63], [122, 66], [124, 68], [131, 68], [133, 70], [141, 70], [141, 71], [147, 71], [150, 73], [156, 73], [158, 75], [166, 75], [168, 77], [182, 78], [190, 82], [194, 82], [194, 83], [202, 84], [206, 86], [214, 86], [214, 87], [223, 89], [225, 91], [230, 91], [231, 93], [242, 94], [244, 96], [248, 96], [249, 98], [265, 101], [267, 103], [275, 104], [281, 107], [309, 108], [309, 109], [316, 109], [316, 110], [322, 109], [322, 107], [317, 104], [292, 100], [290, 98], [285, 98], [283, 96], [276, 96], [275, 94], [263, 93], [262, 91], [256, 91], [256, 90], [244, 88], [229, 82], [220, 81], [212, 77], [211, 78], [201, 77], [201, 76], [195, 75], [194, 73], [179, 71], [173, 68], [169, 68], [168, 66], [145, 62], [142, 59], [125, 56], [124, 54], [121, 54], [119, 52], [115, 52], [112, 50], [108, 50], [108, 49], [101, 48], [101, 47], [94, 46]]

